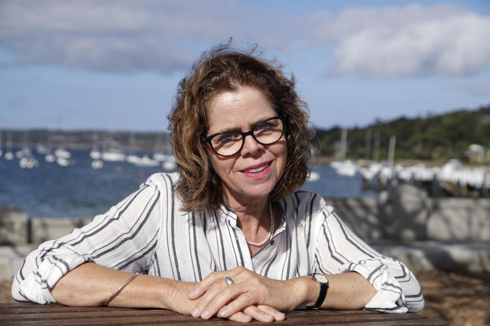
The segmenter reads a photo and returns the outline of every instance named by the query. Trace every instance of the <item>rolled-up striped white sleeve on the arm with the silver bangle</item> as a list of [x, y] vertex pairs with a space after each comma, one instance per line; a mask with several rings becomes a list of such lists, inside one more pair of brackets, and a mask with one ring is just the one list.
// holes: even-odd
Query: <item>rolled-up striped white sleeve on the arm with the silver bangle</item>
[[152, 182], [86, 226], [42, 243], [29, 254], [14, 277], [17, 301], [56, 303], [51, 289], [68, 271], [84, 262], [145, 273], [157, 246], [161, 192]]

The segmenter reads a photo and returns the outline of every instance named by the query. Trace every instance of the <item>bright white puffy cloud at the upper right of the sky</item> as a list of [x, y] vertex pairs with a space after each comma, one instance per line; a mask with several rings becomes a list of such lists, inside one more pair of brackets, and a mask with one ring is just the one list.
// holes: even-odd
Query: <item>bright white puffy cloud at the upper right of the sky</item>
[[328, 18], [318, 42], [334, 42], [333, 74], [465, 75], [490, 66], [490, 17], [457, 6], [354, 9]]

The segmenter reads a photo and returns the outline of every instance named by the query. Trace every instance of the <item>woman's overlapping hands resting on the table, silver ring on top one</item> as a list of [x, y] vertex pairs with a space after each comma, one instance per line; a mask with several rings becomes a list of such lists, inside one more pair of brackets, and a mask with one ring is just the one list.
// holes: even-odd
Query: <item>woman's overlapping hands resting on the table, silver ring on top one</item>
[[[234, 284], [229, 286], [225, 277]], [[214, 315], [227, 318], [242, 311], [260, 321], [282, 320], [281, 311], [294, 310], [300, 303], [299, 291], [292, 283], [269, 279], [244, 267], [215, 271], [189, 292], [189, 299], [199, 298], [191, 314], [204, 319]]]

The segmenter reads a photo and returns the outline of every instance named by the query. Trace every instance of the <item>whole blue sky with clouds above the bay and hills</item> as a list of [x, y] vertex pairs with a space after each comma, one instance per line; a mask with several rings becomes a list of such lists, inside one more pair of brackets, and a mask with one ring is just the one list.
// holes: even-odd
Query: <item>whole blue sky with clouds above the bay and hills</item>
[[490, 1], [0, 1], [0, 129], [166, 131], [230, 37], [297, 78], [311, 124], [490, 104]]

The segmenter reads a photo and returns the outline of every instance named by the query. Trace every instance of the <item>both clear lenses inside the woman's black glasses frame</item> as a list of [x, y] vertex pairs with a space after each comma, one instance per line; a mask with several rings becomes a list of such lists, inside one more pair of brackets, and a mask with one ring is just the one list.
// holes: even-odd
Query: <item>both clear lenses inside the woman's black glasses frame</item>
[[[269, 145], [277, 142], [283, 131], [281, 119], [266, 120], [253, 129], [254, 139], [262, 145]], [[236, 154], [244, 142], [244, 136], [238, 132], [225, 132], [215, 135], [211, 139], [213, 149], [219, 155]]]

